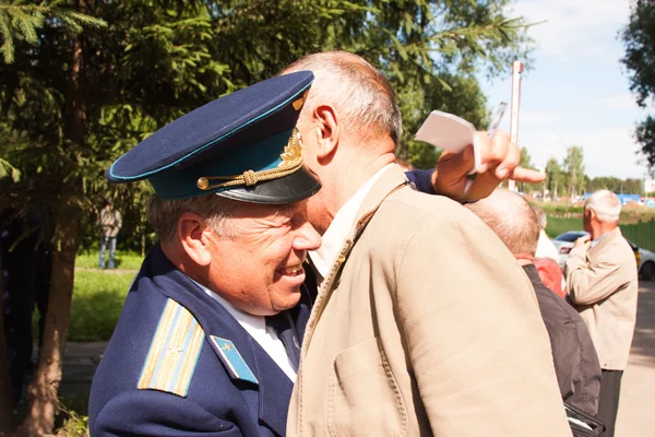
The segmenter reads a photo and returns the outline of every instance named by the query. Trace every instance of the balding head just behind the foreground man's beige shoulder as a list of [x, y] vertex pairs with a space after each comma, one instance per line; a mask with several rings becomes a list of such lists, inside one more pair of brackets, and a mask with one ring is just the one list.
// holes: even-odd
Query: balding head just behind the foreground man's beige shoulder
[[534, 210], [515, 192], [497, 189], [487, 199], [466, 205], [498, 235], [512, 255], [535, 256], [539, 225]]

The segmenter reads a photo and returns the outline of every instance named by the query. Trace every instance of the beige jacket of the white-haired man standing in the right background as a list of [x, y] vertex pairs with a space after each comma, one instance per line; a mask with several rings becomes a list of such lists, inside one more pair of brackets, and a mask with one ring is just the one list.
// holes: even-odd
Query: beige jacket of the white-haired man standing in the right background
[[600, 367], [623, 370], [636, 321], [638, 271], [632, 248], [618, 227], [586, 257], [567, 259], [569, 298], [587, 323]]

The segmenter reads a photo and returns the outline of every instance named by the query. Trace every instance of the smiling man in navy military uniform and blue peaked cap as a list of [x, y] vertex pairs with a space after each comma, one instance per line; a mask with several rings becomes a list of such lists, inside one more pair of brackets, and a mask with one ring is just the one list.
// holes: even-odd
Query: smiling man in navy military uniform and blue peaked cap
[[[312, 82], [261, 82], [171, 122], [109, 180], [147, 179], [159, 244], [128, 294], [94, 378], [92, 436], [285, 434], [320, 237], [295, 125]], [[293, 309], [293, 311], [290, 310]]]

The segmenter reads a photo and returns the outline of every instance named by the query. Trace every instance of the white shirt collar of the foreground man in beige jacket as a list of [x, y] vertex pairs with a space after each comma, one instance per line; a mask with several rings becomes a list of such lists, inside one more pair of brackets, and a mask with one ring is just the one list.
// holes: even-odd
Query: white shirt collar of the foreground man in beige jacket
[[380, 168], [378, 173], [373, 175], [365, 185], [357, 190], [357, 192], [338, 210], [334, 220], [323, 234], [321, 247], [318, 250], [310, 251], [309, 257], [311, 262], [318, 270], [318, 273], [322, 277], [318, 277], [319, 283], [327, 276], [330, 268], [342, 248], [344, 241], [348, 237], [348, 233], [353, 228], [355, 221], [357, 220], [357, 212], [364, 199], [369, 193], [373, 185], [389, 168], [395, 164], [388, 164]]

